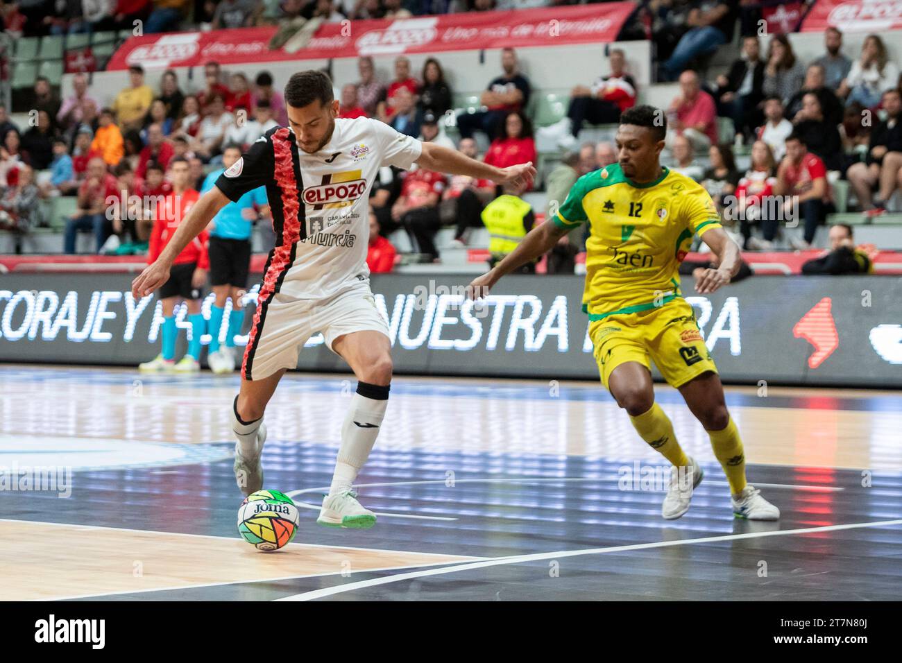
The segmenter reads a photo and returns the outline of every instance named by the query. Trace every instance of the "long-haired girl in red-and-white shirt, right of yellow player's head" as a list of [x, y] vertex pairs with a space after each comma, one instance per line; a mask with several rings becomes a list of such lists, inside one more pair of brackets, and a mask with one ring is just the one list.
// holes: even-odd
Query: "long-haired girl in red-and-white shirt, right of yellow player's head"
[[[777, 161], [770, 146], [764, 141], [755, 141], [751, 145], [751, 164], [749, 170], [739, 180], [736, 187], [735, 207], [740, 218], [740, 232], [743, 238], [742, 248], [746, 251], [770, 251], [777, 236], [778, 218], [771, 212], [776, 202], [773, 198], [774, 185], [777, 184]], [[751, 226], [760, 225], [763, 239], [751, 235]]]

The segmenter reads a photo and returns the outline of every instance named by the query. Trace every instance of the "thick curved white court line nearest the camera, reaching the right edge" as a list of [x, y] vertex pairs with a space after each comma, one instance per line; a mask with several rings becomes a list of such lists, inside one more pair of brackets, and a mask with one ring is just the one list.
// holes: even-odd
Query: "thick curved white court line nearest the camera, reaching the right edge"
[[470, 571], [477, 568], [485, 568], [487, 566], [502, 566], [506, 564], [521, 564], [523, 562], [533, 562], [543, 559], [557, 559], [560, 557], [578, 557], [582, 555], [600, 555], [610, 552], [626, 552], [630, 550], [646, 550], [649, 548], [668, 548], [670, 546], [690, 546], [695, 543], [715, 543], [718, 541], [735, 541], [739, 539], [759, 539], [762, 537], [780, 537], [790, 534], [814, 534], [815, 532], [837, 531], [840, 529], [857, 529], [865, 527], [885, 527], [889, 525], [902, 525], [902, 520], [879, 520], [877, 522], [856, 522], [847, 525], [827, 525], [824, 527], [811, 527], [802, 529], [776, 529], [764, 532], [746, 532], [744, 534], [727, 534], [720, 537], [703, 537], [701, 539], [681, 539], [675, 541], [654, 541], [652, 543], [639, 543], [632, 546], [615, 546], [612, 548], [586, 548], [583, 550], [558, 550], [550, 553], [536, 553], [533, 555], [513, 555], [510, 557], [495, 557], [480, 562], [470, 562], [456, 566], [446, 566], [444, 568], [433, 568], [427, 571], [413, 571], [411, 573], [403, 573], [396, 576], [386, 576], [382, 578], [371, 578], [369, 580], [360, 580], [356, 583], [347, 583], [345, 585], [336, 585], [317, 589], [303, 594], [294, 594], [285, 596], [276, 601], [312, 601], [314, 599], [333, 596], [335, 594], [345, 594], [345, 592], [354, 592], [364, 587], [373, 587], [376, 585], [389, 585], [391, 583], [400, 583], [404, 580], [413, 580], [427, 576], [441, 576], [444, 574], [455, 573], [456, 571]]

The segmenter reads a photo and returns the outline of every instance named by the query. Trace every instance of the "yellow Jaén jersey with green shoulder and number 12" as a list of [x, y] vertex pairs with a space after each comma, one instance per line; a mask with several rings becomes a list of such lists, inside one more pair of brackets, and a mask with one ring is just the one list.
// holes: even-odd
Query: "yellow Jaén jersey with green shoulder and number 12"
[[588, 223], [583, 308], [590, 320], [656, 308], [681, 297], [679, 263], [693, 235], [720, 228], [713, 200], [700, 184], [667, 168], [637, 184], [620, 164], [576, 180], [554, 223]]

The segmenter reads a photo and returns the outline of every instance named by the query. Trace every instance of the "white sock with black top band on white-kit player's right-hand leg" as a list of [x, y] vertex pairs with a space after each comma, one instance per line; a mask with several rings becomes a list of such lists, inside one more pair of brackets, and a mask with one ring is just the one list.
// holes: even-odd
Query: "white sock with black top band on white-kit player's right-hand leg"
[[338, 448], [336, 471], [329, 487], [330, 495], [351, 490], [357, 473], [373, 450], [388, 403], [388, 386], [357, 383], [357, 392], [351, 399], [351, 407], [341, 428], [341, 447]]

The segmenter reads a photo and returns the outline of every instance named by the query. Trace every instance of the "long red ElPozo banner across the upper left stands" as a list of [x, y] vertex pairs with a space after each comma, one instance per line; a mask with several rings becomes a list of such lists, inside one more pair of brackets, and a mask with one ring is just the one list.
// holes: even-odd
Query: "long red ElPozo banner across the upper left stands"
[[[504, 46], [610, 42], [635, 10], [631, 2], [573, 5], [508, 12], [417, 16], [395, 21], [324, 23], [297, 52], [270, 49], [274, 26], [132, 37], [106, 69], [192, 67], [207, 60], [240, 64], [321, 60], [358, 55], [434, 53]], [[290, 41], [288, 41], [290, 44]]]

